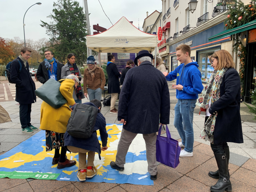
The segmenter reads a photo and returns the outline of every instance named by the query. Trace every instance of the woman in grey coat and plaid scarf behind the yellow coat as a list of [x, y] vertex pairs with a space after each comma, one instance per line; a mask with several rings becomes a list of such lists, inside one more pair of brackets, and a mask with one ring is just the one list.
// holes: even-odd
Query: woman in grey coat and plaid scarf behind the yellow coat
[[[68, 59], [68, 63], [66, 65], [64, 65], [61, 69], [61, 79], [66, 79], [66, 77], [68, 75], [75, 75], [77, 76], [77, 78], [79, 79], [79, 81], [82, 80], [82, 76], [80, 73], [79, 68], [76, 65], [76, 56], [74, 53], [68, 53], [67, 56]], [[82, 90], [82, 86], [81, 83], [79, 82], [79, 84], [77, 85], [77, 87], [75, 88], [74, 92], [73, 92], [73, 98], [75, 100], [76, 103], [82, 103], [82, 99], [84, 99], [84, 92]]]

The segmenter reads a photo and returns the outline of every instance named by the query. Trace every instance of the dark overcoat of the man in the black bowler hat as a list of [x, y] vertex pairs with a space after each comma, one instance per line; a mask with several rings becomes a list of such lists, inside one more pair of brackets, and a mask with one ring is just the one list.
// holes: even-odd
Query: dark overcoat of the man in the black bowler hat
[[129, 69], [118, 103], [120, 121], [127, 121], [123, 128], [133, 133], [158, 132], [160, 123], [169, 124], [170, 94], [167, 81], [161, 71], [150, 61]]

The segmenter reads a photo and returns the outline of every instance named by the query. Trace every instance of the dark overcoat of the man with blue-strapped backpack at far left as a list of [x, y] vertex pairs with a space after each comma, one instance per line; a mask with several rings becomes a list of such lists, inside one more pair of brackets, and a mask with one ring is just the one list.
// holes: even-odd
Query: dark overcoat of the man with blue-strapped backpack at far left
[[20, 60], [20, 63], [22, 65], [21, 71], [19, 73], [19, 69], [20, 69], [19, 62], [17, 60], [13, 60], [11, 64], [11, 75], [10, 75], [11, 81], [15, 83], [15, 87], [16, 87], [15, 101], [21, 104], [35, 103], [36, 85], [29, 73], [28, 62], [26, 63], [27, 66], [25, 67], [23, 61], [19, 57], [17, 57], [17, 59]]

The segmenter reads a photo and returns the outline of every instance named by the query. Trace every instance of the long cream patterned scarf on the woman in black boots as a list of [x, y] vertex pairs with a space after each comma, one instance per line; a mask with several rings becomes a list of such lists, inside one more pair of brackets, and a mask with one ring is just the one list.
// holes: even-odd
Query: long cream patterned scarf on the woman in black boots
[[[220, 98], [220, 84], [222, 83], [223, 76], [227, 70], [228, 68], [223, 68], [221, 70], [218, 70], [218, 71], [214, 70], [212, 72], [212, 76], [210, 77], [202, 93], [198, 97], [198, 100], [196, 102], [197, 106], [206, 109], [209, 105], [209, 102], [211, 102], [211, 105], [212, 105], [214, 101]], [[214, 132], [217, 115], [218, 113], [209, 116], [209, 118], [204, 124], [204, 128], [200, 135], [202, 139], [206, 141], [208, 140], [212, 144], [213, 144], [213, 132]]]

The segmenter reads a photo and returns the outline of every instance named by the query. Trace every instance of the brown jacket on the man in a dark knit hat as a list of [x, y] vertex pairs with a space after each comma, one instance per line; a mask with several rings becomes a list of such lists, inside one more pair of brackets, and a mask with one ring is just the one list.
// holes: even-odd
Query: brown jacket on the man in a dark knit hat
[[92, 80], [92, 76], [89, 73], [88, 68], [84, 70], [84, 93], [87, 93], [87, 88], [89, 89], [98, 89], [104, 90], [104, 86], [106, 84], [105, 74], [103, 69], [97, 66], [94, 71], [94, 79]]

